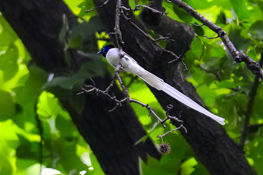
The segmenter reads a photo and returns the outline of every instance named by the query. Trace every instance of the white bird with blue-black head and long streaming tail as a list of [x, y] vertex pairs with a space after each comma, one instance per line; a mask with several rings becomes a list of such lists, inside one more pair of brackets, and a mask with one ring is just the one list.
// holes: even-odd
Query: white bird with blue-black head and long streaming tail
[[[120, 58], [119, 49], [115, 48], [114, 45], [106, 45], [98, 53], [101, 53], [104, 57], [106, 57], [107, 61], [110, 63], [111, 66], [113, 67], [118, 66], [119, 58]], [[221, 125], [225, 125], [224, 118], [210, 113], [208, 110], [198, 105], [189, 97], [185, 96], [183, 93], [179, 92], [169, 84], [165, 83], [162, 79], [160, 79], [156, 75], [153, 75], [152, 73], [142, 68], [133, 58], [131, 58], [125, 52], [122, 58], [121, 69], [139, 76], [141, 79], [143, 79], [146, 83], [148, 83], [153, 88], [166, 92], [168, 95], [172, 96], [176, 100], [179, 100], [180, 102], [189, 106], [190, 108], [195, 109], [196, 111], [203, 113], [208, 117], [211, 117]]]

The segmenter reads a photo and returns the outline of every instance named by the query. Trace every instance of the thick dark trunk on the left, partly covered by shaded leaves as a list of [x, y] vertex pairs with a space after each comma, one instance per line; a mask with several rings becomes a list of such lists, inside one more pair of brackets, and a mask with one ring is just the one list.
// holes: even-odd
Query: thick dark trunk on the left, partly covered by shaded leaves
[[[33, 63], [48, 72], [55, 72], [56, 76], [70, 69], [75, 70], [65, 61], [59, 33], [63, 26], [63, 14], [66, 15], [70, 29], [76, 25], [77, 18], [62, 0], [3, 0], [0, 1], [0, 11], [28, 49]], [[78, 59], [76, 52], [71, 53], [73, 61]], [[98, 88], [106, 89], [112, 78], [109, 75], [107, 72], [105, 77], [94, 78]], [[160, 159], [150, 139], [134, 146], [146, 132], [128, 103], [109, 112], [114, 102], [105, 96], [94, 93], [76, 96], [80, 89], [78, 92], [59, 87], [47, 90], [54, 93], [70, 113], [106, 174], [137, 175], [140, 174], [139, 156], [147, 160], [148, 153]], [[111, 92], [117, 98], [123, 98], [117, 86]], [[78, 99], [79, 104], [84, 105], [82, 111], [76, 108], [72, 99]]]

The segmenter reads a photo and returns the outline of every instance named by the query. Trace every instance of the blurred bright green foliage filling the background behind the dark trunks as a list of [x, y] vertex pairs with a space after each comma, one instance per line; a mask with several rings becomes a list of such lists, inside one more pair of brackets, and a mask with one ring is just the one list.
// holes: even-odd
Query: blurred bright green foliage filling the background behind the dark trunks
[[[65, 2], [73, 13], [79, 16], [80, 22], [71, 33], [69, 48], [93, 55], [103, 45], [110, 44], [97, 12], [84, 13], [84, 10], [94, 8], [91, 0]], [[260, 60], [263, 47], [262, 0], [185, 2], [221, 26], [240, 52], [248, 54], [257, 62]], [[137, 4], [147, 3], [149, 2], [146, 0], [130, 0], [132, 8]], [[166, 12], [169, 12], [168, 16], [175, 20], [189, 25], [200, 24], [172, 3], [164, 1], [163, 6]], [[135, 11], [135, 14], [140, 20], [140, 11]], [[255, 76], [244, 63], [234, 62], [220, 38], [204, 37], [216, 36], [208, 27], [192, 26], [196, 37], [192, 42], [192, 49], [186, 53], [183, 60], [188, 67], [188, 71], [183, 73], [188, 81], [196, 86], [197, 92], [209, 109], [226, 118], [224, 128], [238, 143]], [[159, 37], [152, 31], [148, 33], [153, 38]], [[96, 48], [94, 42], [97, 44]], [[165, 47], [167, 41], [158, 42]], [[44, 168], [56, 169], [63, 174], [104, 174], [67, 111], [53, 94], [45, 91], [45, 87], [50, 86], [50, 75], [36, 66], [28, 66], [30, 59], [23, 43], [0, 15], [0, 175], [39, 174]], [[101, 57], [96, 59], [101, 61]], [[106, 62], [105, 58], [102, 60]], [[108, 68], [113, 72], [114, 68]], [[121, 76], [129, 87], [131, 98], [149, 103], [159, 116], [165, 115], [165, 111], [143, 81], [127, 73], [121, 73]], [[64, 88], [72, 88], [66, 81], [55, 83]], [[261, 83], [252, 107], [250, 123], [253, 126], [249, 130], [244, 147], [246, 158], [258, 174], [263, 174], [263, 134], [260, 132], [263, 119], [262, 104]], [[166, 124], [167, 128], [163, 129], [161, 125], [157, 125], [154, 118], [148, 117], [147, 109], [137, 104], [131, 105], [144, 129], [156, 143], [161, 143], [161, 140], [156, 138], [157, 134], [174, 129], [171, 124]], [[170, 155], [163, 156], [161, 161], [149, 157], [147, 164], [141, 161], [142, 174], [209, 174], [198, 163], [179, 132], [168, 134], [164, 141], [171, 146]]]

